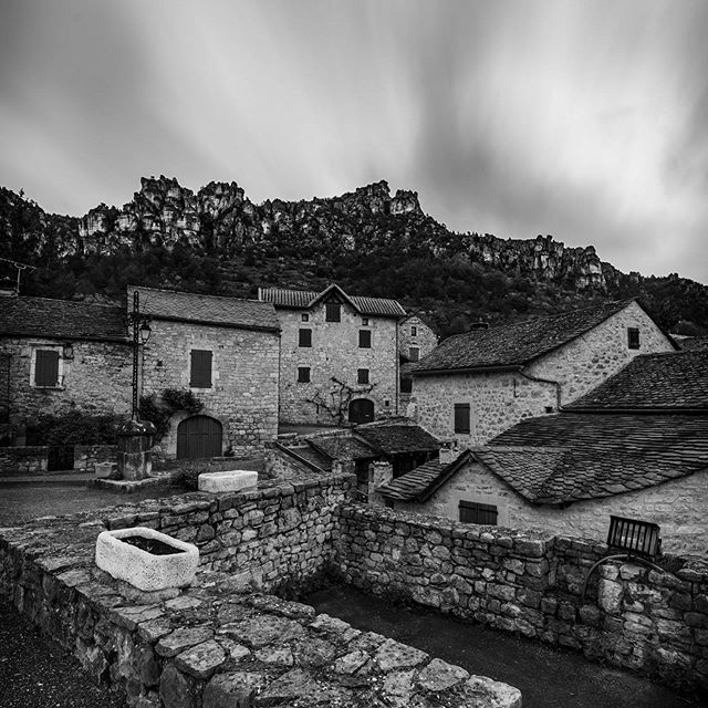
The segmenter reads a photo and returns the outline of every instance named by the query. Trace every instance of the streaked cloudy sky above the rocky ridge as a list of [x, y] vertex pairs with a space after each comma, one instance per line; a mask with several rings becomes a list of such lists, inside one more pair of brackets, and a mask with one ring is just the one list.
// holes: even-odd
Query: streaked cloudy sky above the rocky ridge
[[449, 228], [708, 283], [705, 0], [0, 0], [0, 185], [386, 179]]

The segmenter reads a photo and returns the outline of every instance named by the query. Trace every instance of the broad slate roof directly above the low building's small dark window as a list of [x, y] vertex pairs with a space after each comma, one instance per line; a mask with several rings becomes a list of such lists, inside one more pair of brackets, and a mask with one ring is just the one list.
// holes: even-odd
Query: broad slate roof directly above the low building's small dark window
[[558, 414], [472, 450], [535, 503], [571, 503], [708, 470], [708, 416]]

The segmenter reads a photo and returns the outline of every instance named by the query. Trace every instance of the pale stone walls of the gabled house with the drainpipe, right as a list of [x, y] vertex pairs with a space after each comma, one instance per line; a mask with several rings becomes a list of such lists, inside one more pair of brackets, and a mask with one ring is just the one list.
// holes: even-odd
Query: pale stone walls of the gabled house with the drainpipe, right
[[[639, 329], [639, 348], [627, 346], [627, 327]], [[638, 354], [674, 347], [636, 303], [592, 331], [525, 367], [535, 378], [559, 382], [566, 405], [618, 372]], [[414, 377], [417, 419], [433, 435], [455, 438], [461, 447], [483, 445], [523, 418], [558, 410], [558, 388], [519, 372]], [[469, 404], [470, 434], [455, 433], [455, 404]]]

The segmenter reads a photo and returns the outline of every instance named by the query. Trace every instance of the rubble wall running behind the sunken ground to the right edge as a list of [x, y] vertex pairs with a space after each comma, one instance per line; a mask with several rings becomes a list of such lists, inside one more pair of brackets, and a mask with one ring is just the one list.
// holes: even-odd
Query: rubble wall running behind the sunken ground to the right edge
[[353, 585], [708, 689], [708, 562], [676, 574], [614, 561], [581, 593], [604, 544], [342, 508], [337, 570]]

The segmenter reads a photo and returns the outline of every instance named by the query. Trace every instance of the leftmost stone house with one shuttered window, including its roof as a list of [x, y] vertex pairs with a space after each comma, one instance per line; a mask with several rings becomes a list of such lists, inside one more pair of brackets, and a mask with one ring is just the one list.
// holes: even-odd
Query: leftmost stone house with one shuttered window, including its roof
[[17, 431], [39, 415], [129, 414], [123, 309], [24, 296], [0, 304], [0, 423]]

